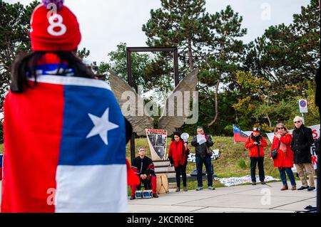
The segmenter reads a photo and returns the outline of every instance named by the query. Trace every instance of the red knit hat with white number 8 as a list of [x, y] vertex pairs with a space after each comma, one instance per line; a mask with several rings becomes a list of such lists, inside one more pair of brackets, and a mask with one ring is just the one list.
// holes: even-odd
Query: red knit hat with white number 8
[[[31, 16], [33, 51], [75, 51], [81, 41], [76, 16], [63, 6], [63, 0], [42, 0]], [[53, 6], [52, 8], [51, 6]], [[56, 9], [56, 12], [53, 11]]]

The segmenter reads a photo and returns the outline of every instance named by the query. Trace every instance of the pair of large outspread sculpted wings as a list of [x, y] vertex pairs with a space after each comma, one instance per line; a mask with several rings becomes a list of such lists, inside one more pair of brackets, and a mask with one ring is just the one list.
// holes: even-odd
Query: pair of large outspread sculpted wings
[[[185, 120], [189, 117], [188, 111], [185, 111], [184, 108], [188, 107], [189, 110], [190, 97], [198, 83], [197, 75], [198, 69], [196, 68], [178, 83], [176, 88], [165, 100], [162, 115], [158, 120], [158, 128], [167, 130], [168, 135], [173, 134], [176, 128], [182, 127]], [[146, 108], [143, 97], [138, 95], [136, 91], [131, 88], [126, 81], [116, 75], [116, 73], [109, 71], [109, 78], [111, 90], [113, 90], [118, 104], [121, 106], [123, 115], [131, 122], [133, 132], [136, 132], [138, 136], [146, 135], [146, 129], [153, 128], [153, 117], [148, 115], [148, 112], [143, 111]], [[135, 98], [132, 100], [133, 102], [128, 103], [130, 101], [128, 101], [127, 97], [131, 94], [133, 94]], [[177, 98], [175, 99], [175, 97]], [[181, 98], [179, 102], [177, 101], [178, 97]], [[131, 106], [131, 108], [129, 108], [130, 110], [127, 108], [128, 105]]]

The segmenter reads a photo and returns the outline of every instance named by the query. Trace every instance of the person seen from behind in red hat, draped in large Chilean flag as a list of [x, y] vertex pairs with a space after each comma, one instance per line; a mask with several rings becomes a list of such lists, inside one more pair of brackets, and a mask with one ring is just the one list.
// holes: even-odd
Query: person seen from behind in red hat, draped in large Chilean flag
[[127, 184], [139, 181], [126, 160], [131, 126], [75, 55], [76, 16], [63, 0], [43, 0], [30, 38], [4, 102], [1, 212], [126, 212]]

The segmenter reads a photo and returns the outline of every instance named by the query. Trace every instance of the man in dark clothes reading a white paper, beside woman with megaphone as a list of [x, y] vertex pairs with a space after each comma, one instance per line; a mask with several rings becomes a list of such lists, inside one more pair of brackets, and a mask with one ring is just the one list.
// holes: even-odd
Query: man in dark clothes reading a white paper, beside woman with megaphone
[[[198, 187], [196, 191], [203, 190], [203, 163], [205, 164], [206, 173], [208, 175], [208, 189], [214, 190], [213, 175], [212, 175], [212, 162], [210, 155], [207, 152], [208, 147], [213, 146], [214, 142], [210, 135], [205, 134], [203, 127], [198, 126], [196, 132], [197, 136], [192, 139], [192, 146], [195, 147], [196, 169], [198, 170]], [[198, 139], [203, 138], [203, 140]]]

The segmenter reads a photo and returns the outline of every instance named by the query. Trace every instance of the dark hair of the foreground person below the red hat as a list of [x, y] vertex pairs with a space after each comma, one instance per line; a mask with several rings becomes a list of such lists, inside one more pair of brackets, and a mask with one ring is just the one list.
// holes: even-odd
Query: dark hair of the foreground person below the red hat
[[33, 51], [31, 53], [20, 53], [16, 57], [11, 67], [11, 85], [10, 90], [13, 93], [23, 93], [26, 88], [31, 88], [29, 85], [27, 74], [35, 79], [36, 85], [36, 64], [46, 53], [54, 53], [60, 58], [60, 65], [57, 70], [57, 75], [66, 75], [65, 70], [60, 73], [63, 62], [68, 63], [68, 68], [72, 68], [74, 75], [83, 78], [95, 78], [95, 75], [81, 59], [71, 51]]

